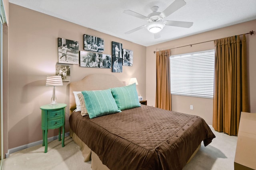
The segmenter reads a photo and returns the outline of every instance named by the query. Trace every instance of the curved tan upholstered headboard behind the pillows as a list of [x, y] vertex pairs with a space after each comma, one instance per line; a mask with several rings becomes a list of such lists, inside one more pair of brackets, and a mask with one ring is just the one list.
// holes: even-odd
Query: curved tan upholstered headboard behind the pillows
[[70, 114], [76, 109], [76, 101], [73, 92], [84, 90], [105, 90], [113, 87], [125, 86], [122, 82], [112, 74], [89, 74], [82, 80], [71, 82], [69, 84], [69, 109]]

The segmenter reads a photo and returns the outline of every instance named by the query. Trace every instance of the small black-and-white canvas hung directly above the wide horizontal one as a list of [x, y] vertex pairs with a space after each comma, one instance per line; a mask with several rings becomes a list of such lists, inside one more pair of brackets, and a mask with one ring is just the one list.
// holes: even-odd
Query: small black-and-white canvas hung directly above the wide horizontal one
[[102, 53], [104, 51], [104, 40], [102, 38], [84, 34], [84, 50]]

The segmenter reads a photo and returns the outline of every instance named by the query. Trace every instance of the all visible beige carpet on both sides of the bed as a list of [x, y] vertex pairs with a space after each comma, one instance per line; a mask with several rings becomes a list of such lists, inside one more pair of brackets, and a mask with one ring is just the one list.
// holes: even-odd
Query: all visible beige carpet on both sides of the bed
[[[216, 138], [207, 147], [202, 144], [183, 170], [234, 170], [237, 137], [212, 131]], [[65, 147], [58, 140], [49, 142], [47, 153], [38, 145], [10, 154], [3, 170], [91, 170], [90, 167], [90, 162], [83, 162], [78, 145], [66, 137]]]

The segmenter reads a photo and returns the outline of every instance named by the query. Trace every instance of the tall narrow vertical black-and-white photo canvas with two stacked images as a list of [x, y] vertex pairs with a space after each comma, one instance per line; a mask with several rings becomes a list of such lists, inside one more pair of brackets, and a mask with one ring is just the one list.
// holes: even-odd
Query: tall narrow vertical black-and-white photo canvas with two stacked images
[[112, 72], [123, 72], [122, 43], [112, 41]]

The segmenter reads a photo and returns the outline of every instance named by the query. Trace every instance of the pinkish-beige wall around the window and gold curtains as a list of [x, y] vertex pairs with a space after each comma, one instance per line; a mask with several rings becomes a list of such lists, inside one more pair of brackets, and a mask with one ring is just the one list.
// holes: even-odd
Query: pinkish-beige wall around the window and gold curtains
[[[240, 23], [237, 25], [168, 41], [166, 43], [160, 43], [147, 47], [146, 50], [146, 96], [148, 105], [155, 106], [155, 92], [156, 92], [156, 55], [153, 51], [160, 51], [164, 49], [171, 49], [171, 55], [177, 55], [182, 53], [190, 53], [196, 51], [204, 51], [214, 49], [214, 42], [210, 40], [230, 37], [233, 35], [240, 35], [248, 33], [249, 31], [256, 31], [256, 20]], [[250, 79], [250, 108], [252, 113], [256, 113], [256, 34], [246, 35], [247, 42], [247, 54], [248, 54], [248, 70]], [[201, 43], [210, 41], [206, 43]], [[200, 43], [196, 45], [190, 44]], [[186, 47], [181, 47], [189, 45]], [[181, 47], [172, 49], [175, 47]], [[190, 110], [190, 105], [194, 105], [194, 110]], [[206, 122], [212, 125], [212, 112], [213, 112], [213, 100], [204, 98], [194, 98], [188, 96], [172, 95], [172, 110], [189, 113], [193, 115], [199, 115], [206, 120]]]

